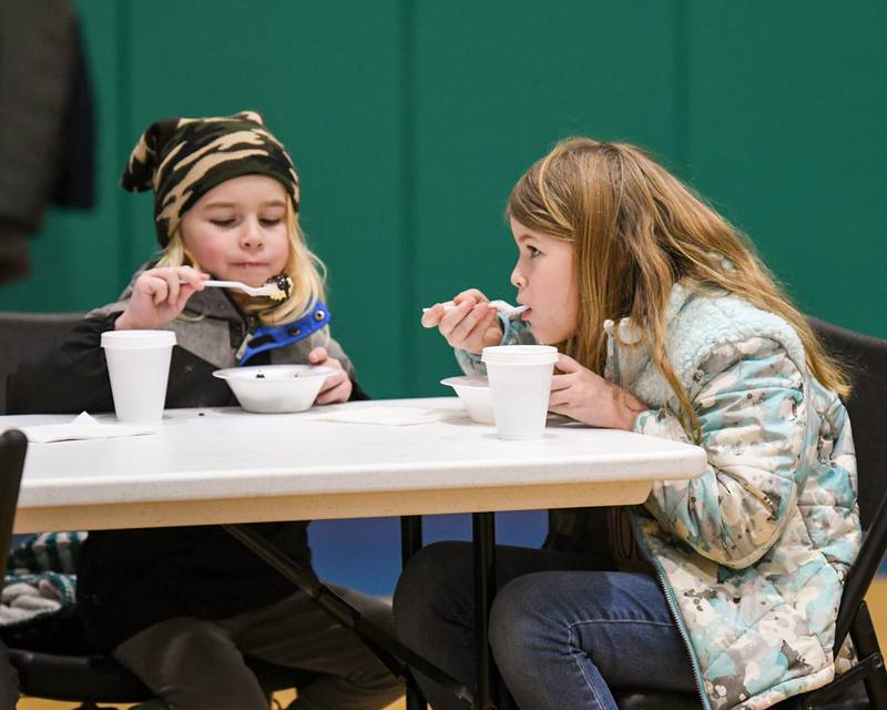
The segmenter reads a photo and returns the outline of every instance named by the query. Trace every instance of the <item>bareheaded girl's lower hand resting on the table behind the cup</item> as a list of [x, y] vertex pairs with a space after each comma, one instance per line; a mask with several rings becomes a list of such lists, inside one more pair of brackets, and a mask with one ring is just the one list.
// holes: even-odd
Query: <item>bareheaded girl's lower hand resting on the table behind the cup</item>
[[551, 378], [548, 408], [582, 424], [610, 429], [634, 427], [634, 419], [646, 405], [631, 393], [582, 367], [572, 357], [558, 355], [563, 375]]

